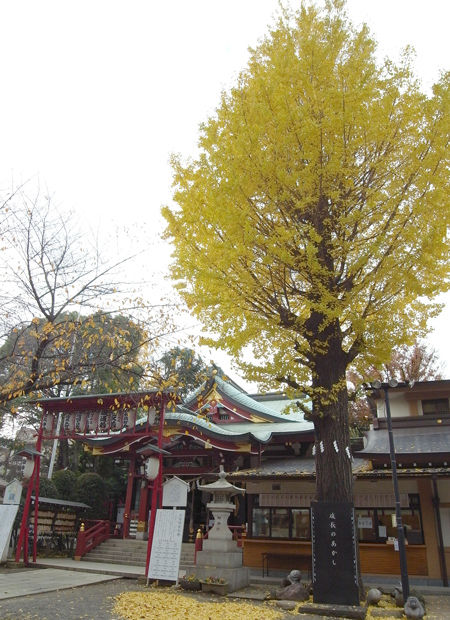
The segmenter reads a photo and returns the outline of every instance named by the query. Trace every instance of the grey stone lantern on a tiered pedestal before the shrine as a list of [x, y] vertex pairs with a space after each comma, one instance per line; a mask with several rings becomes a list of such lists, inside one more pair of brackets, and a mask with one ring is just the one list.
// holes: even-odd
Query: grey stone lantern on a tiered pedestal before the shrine
[[228, 583], [228, 591], [244, 588], [249, 583], [249, 569], [242, 566], [242, 549], [233, 540], [227, 525], [228, 517], [235, 505], [230, 499], [244, 494], [245, 490], [227, 482], [226, 473], [220, 466], [219, 479], [211, 484], [198, 485], [200, 491], [212, 493], [207, 508], [212, 512], [214, 525], [203, 541], [203, 550], [197, 553], [195, 573], [199, 579], [222, 577]]

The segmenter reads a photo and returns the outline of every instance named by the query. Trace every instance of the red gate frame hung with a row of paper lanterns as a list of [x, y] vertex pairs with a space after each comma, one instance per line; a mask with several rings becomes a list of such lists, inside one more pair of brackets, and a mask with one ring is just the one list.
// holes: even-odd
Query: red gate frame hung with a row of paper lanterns
[[[28, 483], [27, 495], [16, 549], [16, 562], [23, 549], [24, 563], [28, 564], [31, 498], [34, 491], [33, 562], [36, 562], [37, 520], [39, 510], [39, 476], [43, 440], [72, 439], [83, 441], [94, 438], [117, 436], [129, 444], [157, 432], [157, 444], [151, 446], [154, 457], [154, 479], [149, 483], [152, 491], [150, 510], [146, 573], [150, 561], [156, 510], [162, 505], [162, 457], [168, 454], [162, 449], [164, 415], [167, 405], [178, 402], [172, 390], [150, 390], [118, 394], [97, 394], [69, 398], [49, 398], [35, 401], [42, 408], [41, 423], [33, 451], [33, 471]], [[153, 432], [152, 432], [153, 431]], [[125, 525], [125, 524], [124, 524]]]

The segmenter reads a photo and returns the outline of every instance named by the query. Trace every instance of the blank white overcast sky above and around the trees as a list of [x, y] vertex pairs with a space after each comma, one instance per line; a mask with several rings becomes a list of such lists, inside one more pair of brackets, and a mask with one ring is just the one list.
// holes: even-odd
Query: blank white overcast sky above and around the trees
[[[449, 6], [350, 0], [348, 12], [369, 24], [381, 57], [412, 44], [430, 88], [449, 64]], [[170, 253], [157, 238], [160, 207], [170, 202], [169, 155], [194, 153], [199, 123], [277, 7], [277, 0], [2, 0], [0, 190], [39, 177], [64, 208], [125, 251], [149, 244], [148, 274], [158, 280]], [[449, 305], [430, 338], [447, 374]]]

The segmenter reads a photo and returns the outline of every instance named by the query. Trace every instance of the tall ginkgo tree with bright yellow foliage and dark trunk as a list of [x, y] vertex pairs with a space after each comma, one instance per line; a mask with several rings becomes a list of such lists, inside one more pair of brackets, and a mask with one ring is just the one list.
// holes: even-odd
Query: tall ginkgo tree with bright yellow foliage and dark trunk
[[352, 500], [347, 368], [424, 334], [448, 288], [449, 76], [426, 95], [375, 47], [340, 0], [282, 12], [163, 209], [208, 344], [310, 398], [323, 501]]

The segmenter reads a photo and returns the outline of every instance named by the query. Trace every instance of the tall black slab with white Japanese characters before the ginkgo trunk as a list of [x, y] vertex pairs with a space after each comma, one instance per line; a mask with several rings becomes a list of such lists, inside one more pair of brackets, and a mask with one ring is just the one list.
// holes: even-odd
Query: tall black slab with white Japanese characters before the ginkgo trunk
[[315, 603], [359, 605], [353, 504], [311, 502]]

